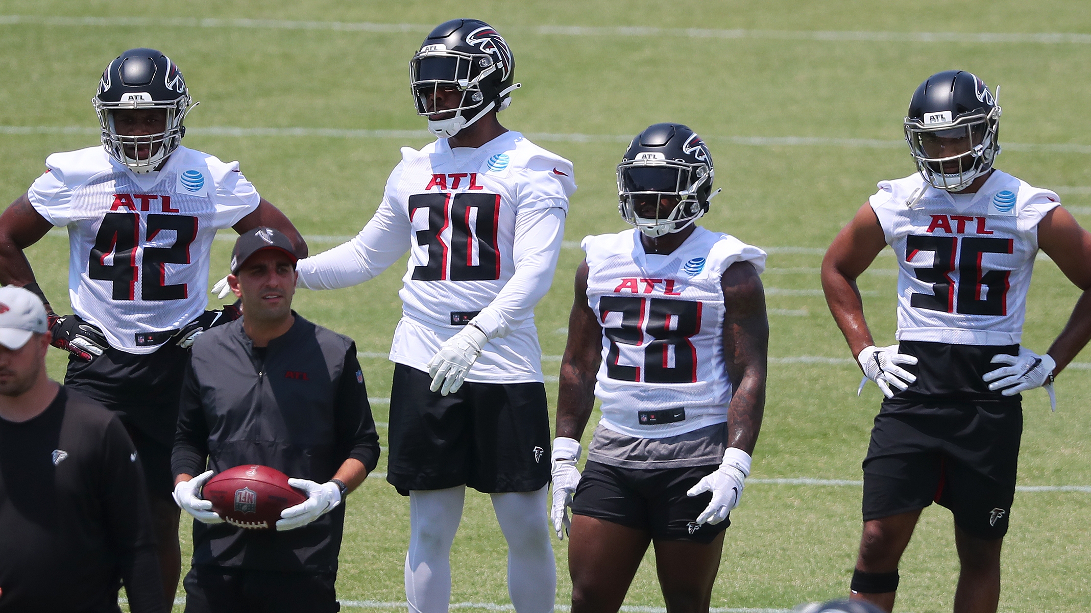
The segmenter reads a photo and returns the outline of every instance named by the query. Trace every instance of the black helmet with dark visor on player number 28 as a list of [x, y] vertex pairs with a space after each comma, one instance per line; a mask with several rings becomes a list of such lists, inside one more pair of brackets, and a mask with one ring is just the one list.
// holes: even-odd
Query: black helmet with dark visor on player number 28
[[[696, 132], [681, 123], [656, 123], [633, 139], [618, 165], [618, 209], [645, 235], [676, 232], [708, 212], [712, 192], [712, 154]], [[678, 205], [659, 216], [659, 202], [674, 197]], [[654, 219], [637, 215], [642, 202], [656, 206]]]

